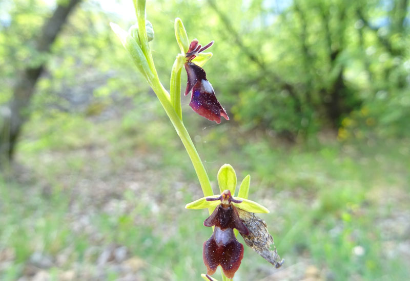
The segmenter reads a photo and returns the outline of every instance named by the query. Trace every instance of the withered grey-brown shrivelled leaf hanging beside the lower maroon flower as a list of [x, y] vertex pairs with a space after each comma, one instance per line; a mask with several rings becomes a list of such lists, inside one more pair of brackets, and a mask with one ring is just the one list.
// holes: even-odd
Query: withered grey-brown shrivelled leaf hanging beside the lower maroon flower
[[[274, 265], [275, 268], [279, 268], [284, 260], [281, 260], [279, 254], [276, 252], [276, 247], [273, 243], [272, 235], [268, 232], [267, 224], [254, 213], [249, 213], [239, 207], [237, 210], [240, 220], [249, 229], [249, 235], [243, 235], [241, 233], [245, 243], [263, 257], [263, 259]], [[273, 251], [269, 249], [271, 245], [273, 245]]]

